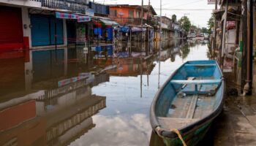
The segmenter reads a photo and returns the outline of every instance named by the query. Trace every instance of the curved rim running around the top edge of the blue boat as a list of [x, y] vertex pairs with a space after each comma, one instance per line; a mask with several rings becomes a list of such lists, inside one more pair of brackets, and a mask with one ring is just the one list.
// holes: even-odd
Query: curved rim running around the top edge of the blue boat
[[[208, 60], [208, 61], [214, 61], [214, 60]], [[181, 132], [181, 134], [183, 136], [191, 133], [192, 131], [194, 131], [195, 129], [197, 129], [200, 126], [205, 125], [208, 122], [211, 122], [211, 120], [214, 120], [214, 118], [216, 118], [219, 113], [222, 111], [222, 107], [224, 104], [224, 92], [225, 92], [225, 80], [222, 74], [222, 70], [219, 67], [219, 64], [217, 63], [217, 61], [214, 61], [215, 64], [217, 64], [217, 67], [219, 69], [219, 72], [221, 74], [221, 80], [222, 80], [222, 93], [220, 96], [222, 96], [222, 99], [220, 99], [221, 101], [219, 102], [217, 109], [214, 110], [213, 112], [211, 112], [211, 114], [206, 115], [206, 117], [201, 118], [200, 120], [197, 120], [194, 123], [190, 123], [187, 126], [178, 128], [178, 131]], [[173, 78], [173, 76], [178, 72], [179, 69], [181, 69], [182, 67], [184, 67], [185, 64], [188, 64], [189, 61], [187, 61], [186, 63], [182, 64], [178, 69], [176, 69], [173, 74], [170, 75], [170, 77], [165, 81], [165, 83], [161, 86], [161, 88], [157, 91], [156, 95], [154, 96], [154, 99], [152, 101], [151, 104], [151, 108], [150, 108], [150, 122], [151, 122], [151, 127], [153, 128], [154, 132], [156, 132], [160, 137], [166, 137], [166, 138], [170, 138], [170, 139], [176, 139], [178, 137], [178, 135], [176, 133], [174, 133], [173, 131], [171, 131], [170, 129], [163, 129], [160, 128], [160, 124], [157, 120], [157, 116], [155, 115], [155, 107], [156, 107], [156, 103], [157, 100], [159, 99], [159, 95], [160, 93], [162, 93], [163, 89], [165, 88], [165, 86], [170, 82], [170, 80]]]

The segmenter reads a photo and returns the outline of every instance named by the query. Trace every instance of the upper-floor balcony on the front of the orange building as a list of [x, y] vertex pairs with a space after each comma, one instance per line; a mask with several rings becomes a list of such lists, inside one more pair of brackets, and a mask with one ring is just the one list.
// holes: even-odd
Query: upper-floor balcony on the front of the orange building
[[[120, 25], [140, 25], [141, 24], [141, 18], [110, 18], [112, 20], [115, 20]], [[148, 20], [143, 19], [143, 24], [149, 24]]]

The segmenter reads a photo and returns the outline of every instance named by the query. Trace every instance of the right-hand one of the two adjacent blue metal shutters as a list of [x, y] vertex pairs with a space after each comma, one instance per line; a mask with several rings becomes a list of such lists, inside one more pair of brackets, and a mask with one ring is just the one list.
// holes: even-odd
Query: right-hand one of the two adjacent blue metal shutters
[[56, 35], [57, 45], [64, 44], [63, 41], [63, 20], [50, 17], [50, 44], [55, 45], [55, 21], [56, 21]]

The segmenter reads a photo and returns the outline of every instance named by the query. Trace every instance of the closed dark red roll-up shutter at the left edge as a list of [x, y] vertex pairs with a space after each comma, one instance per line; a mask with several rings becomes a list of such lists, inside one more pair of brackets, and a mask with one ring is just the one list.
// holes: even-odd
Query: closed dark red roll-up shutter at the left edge
[[0, 6], [0, 51], [23, 48], [21, 9]]

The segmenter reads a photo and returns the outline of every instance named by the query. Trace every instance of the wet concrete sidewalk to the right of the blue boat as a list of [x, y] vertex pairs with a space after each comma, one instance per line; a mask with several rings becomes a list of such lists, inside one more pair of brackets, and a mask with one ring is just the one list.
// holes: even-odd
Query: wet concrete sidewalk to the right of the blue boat
[[256, 98], [227, 97], [214, 122], [214, 145], [256, 145]]

